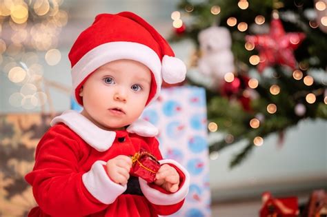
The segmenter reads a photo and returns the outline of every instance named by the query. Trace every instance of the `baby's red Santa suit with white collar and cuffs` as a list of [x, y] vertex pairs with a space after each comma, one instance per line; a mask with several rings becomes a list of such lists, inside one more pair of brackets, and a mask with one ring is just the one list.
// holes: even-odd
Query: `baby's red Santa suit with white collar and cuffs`
[[[139, 119], [126, 130], [106, 131], [69, 110], [52, 120], [37, 145], [35, 165], [26, 180], [39, 207], [29, 216], [158, 216], [175, 213], [184, 203], [190, 177], [173, 160], [162, 159], [157, 129]], [[110, 180], [104, 165], [118, 155], [147, 149], [162, 164], [177, 169], [179, 190], [166, 192], [139, 178], [141, 195], [125, 193], [127, 185]], [[132, 176], [131, 176], [132, 177]]]

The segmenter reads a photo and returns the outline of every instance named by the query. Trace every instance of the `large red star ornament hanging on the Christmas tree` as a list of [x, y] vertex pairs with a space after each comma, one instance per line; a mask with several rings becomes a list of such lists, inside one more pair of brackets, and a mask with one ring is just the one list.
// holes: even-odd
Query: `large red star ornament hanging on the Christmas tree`
[[273, 19], [269, 34], [248, 35], [246, 41], [254, 44], [259, 51], [260, 62], [257, 67], [259, 72], [272, 65], [288, 65], [294, 70], [296, 61], [293, 51], [305, 37], [302, 32], [285, 33], [280, 19]]

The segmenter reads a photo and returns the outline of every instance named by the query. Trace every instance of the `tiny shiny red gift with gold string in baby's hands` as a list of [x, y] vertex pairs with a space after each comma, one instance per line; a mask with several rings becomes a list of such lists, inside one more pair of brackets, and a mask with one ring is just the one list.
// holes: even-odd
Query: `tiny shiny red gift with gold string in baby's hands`
[[155, 180], [155, 175], [160, 169], [160, 163], [157, 161], [157, 158], [143, 149], [132, 156], [132, 163], [130, 174], [141, 177], [148, 183], [152, 183]]

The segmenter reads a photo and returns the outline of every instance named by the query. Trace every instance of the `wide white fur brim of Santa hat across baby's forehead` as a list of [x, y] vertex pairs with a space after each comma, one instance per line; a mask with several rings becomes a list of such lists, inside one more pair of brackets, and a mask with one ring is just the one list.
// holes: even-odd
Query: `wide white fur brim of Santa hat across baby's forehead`
[[[87, 52], [72, 67], [73, 90], [86, 77], [102, 65], [118, 59], [130, 59], [146, 65], [155, 77], [157, 83], [156, 94], [152, 101], [157, 99], [161, 90], [161, 61], [157, 53], [146, 45], [130, 41], [114, 41], [103, 43]], [[76, 100], [75, 92], [72, 94]]]

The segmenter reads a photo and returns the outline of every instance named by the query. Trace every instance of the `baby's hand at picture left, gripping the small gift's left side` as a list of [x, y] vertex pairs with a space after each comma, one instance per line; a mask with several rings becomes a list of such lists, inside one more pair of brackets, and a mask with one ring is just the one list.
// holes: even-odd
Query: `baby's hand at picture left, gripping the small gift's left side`
[[119, 185], [126, 185], [130, 178], [132, 159], [129, 156], [119, 155], [110, 159], [107, 164], [107, 173], [110, 179]]

